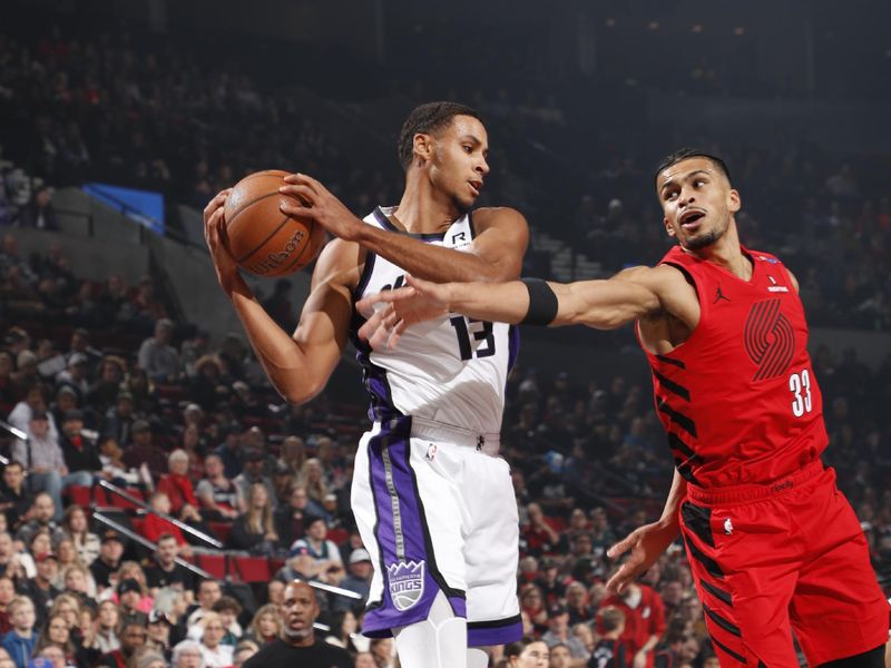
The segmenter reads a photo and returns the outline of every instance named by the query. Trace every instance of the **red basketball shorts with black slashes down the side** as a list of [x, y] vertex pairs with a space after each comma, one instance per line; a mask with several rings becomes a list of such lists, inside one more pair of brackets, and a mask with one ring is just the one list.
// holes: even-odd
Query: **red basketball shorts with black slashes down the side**
[[835, 472], [814, 462], [767, 485], [687, 485], [681, 525], [722, 666], [799, 668], [888, 640], [888, 602]]

